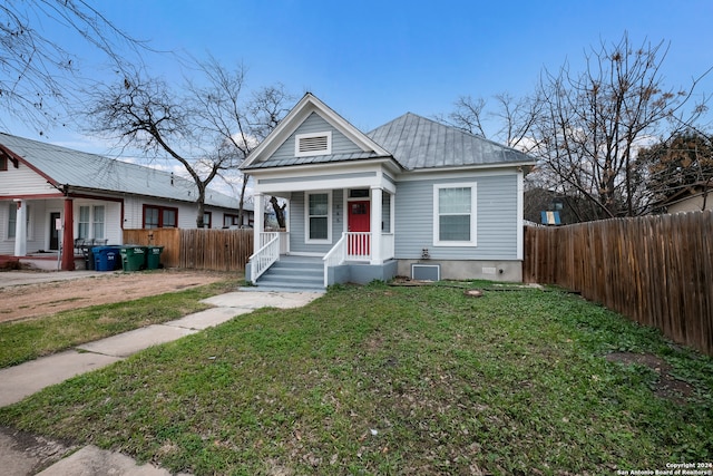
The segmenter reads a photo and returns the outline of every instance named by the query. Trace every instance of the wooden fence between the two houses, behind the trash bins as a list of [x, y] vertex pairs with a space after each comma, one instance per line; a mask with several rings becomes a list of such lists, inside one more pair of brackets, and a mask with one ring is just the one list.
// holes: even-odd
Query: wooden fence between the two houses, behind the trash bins
[[253, 254], [252, 230], [124, 230], [124, 243], [164, 246], [166, 268], [244, 271]]

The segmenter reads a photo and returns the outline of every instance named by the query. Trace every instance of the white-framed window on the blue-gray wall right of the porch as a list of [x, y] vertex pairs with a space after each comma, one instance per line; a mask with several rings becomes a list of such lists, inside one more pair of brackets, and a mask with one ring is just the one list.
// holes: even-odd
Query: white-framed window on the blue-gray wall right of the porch
[[433, 244], [476, 245], [476, 185], [433, 186]]

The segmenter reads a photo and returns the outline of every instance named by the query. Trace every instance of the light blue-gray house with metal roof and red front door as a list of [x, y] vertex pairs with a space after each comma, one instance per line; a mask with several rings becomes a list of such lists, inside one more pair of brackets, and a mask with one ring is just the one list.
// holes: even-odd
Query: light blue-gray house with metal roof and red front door
[[241, 166], [255, 207], [290, 203], [286, 233], [264, 233], [255, 218], [246, 278], [280, 286], [296, 275], [294, 288], [397, 275], [521, 281], [522, 178], [534, 164], [410, 113], [362, 133], [306, 94]]

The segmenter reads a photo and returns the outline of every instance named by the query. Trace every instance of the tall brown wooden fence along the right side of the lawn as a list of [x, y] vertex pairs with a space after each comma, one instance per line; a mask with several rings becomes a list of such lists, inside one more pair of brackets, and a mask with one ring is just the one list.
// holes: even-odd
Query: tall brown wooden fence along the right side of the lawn
[[527, 226], [522, 274], [713, 354], [713, 211]]

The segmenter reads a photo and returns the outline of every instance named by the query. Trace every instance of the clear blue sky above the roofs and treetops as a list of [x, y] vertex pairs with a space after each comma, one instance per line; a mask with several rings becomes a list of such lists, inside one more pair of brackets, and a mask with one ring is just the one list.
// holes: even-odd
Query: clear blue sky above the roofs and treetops
[[[322, 1], [102, 0], [92, 4], [130, 36], [159, 50], [248, 68], [248, 86], [276, 81], [295, 96], [311, 91], [362, 130], [403, 113], [447, 114], [461, 95], [530, 93], [543, 68], [569, 60], [628, 31], [671, 42], [662, 71], [671, 87], [713, 66], [713, 1]], [[45, 28], [56, 28], [47, 22]], [[67, 49], [91, 64], [94, 51], [67, 37]], [[152, 58], [152, 72], [180, 81], [179, 65]], [[91, 69], [89, 69], [91, 71]], [[700, 94], [713, 94], [713, 75]], [[21, 125], [10, 133], [38, 138]], [[101, 146], [79, 130], [45, 139], [89, 152]]]

